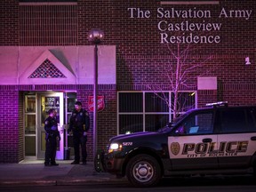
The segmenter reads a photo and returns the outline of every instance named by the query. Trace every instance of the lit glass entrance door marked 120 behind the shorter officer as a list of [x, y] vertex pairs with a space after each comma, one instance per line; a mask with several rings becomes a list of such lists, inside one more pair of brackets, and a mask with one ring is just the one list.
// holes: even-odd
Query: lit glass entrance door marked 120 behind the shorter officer
[[64, 158], [64, 101], [63, 92], [38, 93], [38, 125], [37, 125], [37, 158], [44, 159], [45, 154], [45, 131], [44, 120], [47, 118], [47, 111], [54, 108], [57, 111], [58, 130], [60, 131], [60, 142], [57, 142], [56, 159]]

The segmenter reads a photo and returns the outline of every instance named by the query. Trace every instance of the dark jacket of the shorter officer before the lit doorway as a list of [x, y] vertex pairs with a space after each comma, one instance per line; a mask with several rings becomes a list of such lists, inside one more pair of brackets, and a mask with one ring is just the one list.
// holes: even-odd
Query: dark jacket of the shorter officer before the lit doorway
[[48, 116], [44, 121], [44, 130], [46, 133], [46, 139], [49, 137], [60, 137], [60, 132], [58, 131], [58, 123], [56, 118]]

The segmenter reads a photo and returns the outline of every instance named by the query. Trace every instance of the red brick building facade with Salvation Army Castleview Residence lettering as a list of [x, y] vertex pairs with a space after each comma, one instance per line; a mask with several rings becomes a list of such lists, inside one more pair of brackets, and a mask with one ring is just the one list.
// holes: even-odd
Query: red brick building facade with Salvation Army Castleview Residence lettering
[[[196, 92], [197, 108], [206, 102], [219, 100], [228, 100], [232, 106], [256, 105], [256, 2], [189, 2], [1, 1], [0, 163], [19, 163], [26, 157], [26, 92], [76, 92], [76, 99], [88, 108], [88, 96], [92, 95], [93, 85], [87, 78], [90, 70], [84, 68], [91, 68], [93, 61], [92, 58], [84, 61], [91, 51], [86, 51], [87, 54], [79, 50], [92, 48], [87, 39], [87, 32], [92, 28], [104, 31], [101, 46], [114, 46], [116, 55], [115, 71], [110, 72], [115, 80], [108, 81], [111, 76], [108, 76], [106, 66], [101, 68], [107, 75], [99, 75], [99, 94], [104, 95], [106, 106], [98, 116], [98, 148], [105, 148], [110, 137], [121, 133], [118, 92], [148, 92], [152, 87], [154, 92], [172, 92], [170, 79], [164, 76], [164, 72], [170, 63], [177, 62], [173, 60], [170, 49], [177, 53], [179, 41], [181, 52], [188, 48], [188, 44], [191, 45], [186, 63], [190, 66], [204, 63], [188, 74], [189, 81], [180, 88], [182, 92]], [[10, 51], [6, 52], [6, 49]], [[26, 49], [31, 49], [31, 53], [26, 53]], [[72, 53], [68, 53], [68, 49], [72, 49]], [[68, 64], [66, 67], [73, 71], [74, 81], [67, 79], [55, 84], [42, 78], [41, 83], [35, 84], [29, 83], [29, 79], [25, 79], [26, 82], [22, 80], [26, 68], [47, 50], [64, 66]], [[108, 65], [108, 62], [107, 57], [103, 63]], [[80, 74], [77, 68], [84, 69], [85, 75]], [[217, 87], [209, 88], [205, 79], [200, 80], [198, 76], [206, 77], [209, 84], [217, 84]], [[207, 77], [214, 77], [217, 82]], [[90, 116], [92, 119], [92, 113]], [[91, 127], [88, 141], [90, 160], [92, 133]]]

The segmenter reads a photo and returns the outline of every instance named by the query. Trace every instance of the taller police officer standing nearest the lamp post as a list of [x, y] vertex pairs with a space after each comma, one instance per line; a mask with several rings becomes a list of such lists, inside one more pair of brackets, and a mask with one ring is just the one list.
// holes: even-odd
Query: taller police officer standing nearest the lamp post
[[75, 109], [72, 112], [72, 115], [69, 120], [68, 132], [73, 133], [73, 143], [75, 150], [75, 161], [71, 164], [80, 163], [80, 145], [82, 149], [82, 161], [83, 164], [86, 164], [87, 151], [86, 151], [86, 142], [87, 142], [87, 132], [90, 127], [90, 117], [86, 110], [82, 108], [82, 103], [76, 101]]

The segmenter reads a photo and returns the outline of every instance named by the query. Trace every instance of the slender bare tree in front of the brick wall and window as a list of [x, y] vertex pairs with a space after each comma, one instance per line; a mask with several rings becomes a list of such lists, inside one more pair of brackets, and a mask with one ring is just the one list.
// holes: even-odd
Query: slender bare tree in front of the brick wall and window
[[[170, 82], [173, 92], [173, 102], [167, 98], [166, 94], [164, 94], [162, 87], [148, 85], [148, 88], [152, 90], [158, 98], [164, 100], [168, 107], [171, 108], [173, 118], [175, 119], [179, 116], [180, 111], [186, 110], [185, 103], [180, 102], [181, 89], [186, 88], [187, 90], [191, 90], [193, 87], [196, 88], [196, 85], [191, 84], [190, 82], [195, 82], [197, 76], [203, 76], [209, 72], [205, 71], [203, 67], [207, 60], [211, 60], [212, 56], [206, 57], [203, 60], [191, 57], [190, 52], [196, 51], [191, 44], [186, 44], [184, 48], [181, 48], [180, 44], [177, 44], [176, 50], [170, 45], [167, 46], [171, 53], [172, 60], [168, 65], [166, 65], [163, 73], [167, 76]], [[156, 90], [158, 92], [156, 92]]]

